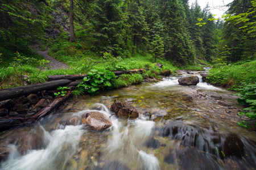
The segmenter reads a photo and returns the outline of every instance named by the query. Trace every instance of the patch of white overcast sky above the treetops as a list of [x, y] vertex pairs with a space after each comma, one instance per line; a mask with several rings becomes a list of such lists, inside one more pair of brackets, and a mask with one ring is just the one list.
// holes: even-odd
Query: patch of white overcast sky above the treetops
[[[191, 6], [191, 4], [195, 1], [196, 0], [189, 0], [189, 5]], [[228, 8], [224, 7], [224, 5], [227, 5], [232, 1], [233, 0], [197, 0], [197, 3], [199, 3], [201, 9], [203, 10], [203, 8], [207, 5], [207, 2], [209, 2], [210, 12], [217, 15], [215, 18], [221, 18], [221, 15], [228, 10]]]

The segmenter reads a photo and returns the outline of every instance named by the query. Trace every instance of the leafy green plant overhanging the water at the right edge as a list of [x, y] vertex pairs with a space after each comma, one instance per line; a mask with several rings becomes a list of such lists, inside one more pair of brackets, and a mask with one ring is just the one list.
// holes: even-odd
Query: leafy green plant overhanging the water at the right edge
[[[244, 108], [238, 115], [242, 116], [245, 114], [247, 117], [254, 119], [256, 117], [256, 84], [247, 85], [246, 87], [238, 89], [238, 91], [239, 92], [237, 94], [234, 94], [241, 96], [238, 99], [238, 103], [247, 106], [247, 108]], [[238, 125], [248, 128], [244, 120], [242, 122], [238, 122]]]

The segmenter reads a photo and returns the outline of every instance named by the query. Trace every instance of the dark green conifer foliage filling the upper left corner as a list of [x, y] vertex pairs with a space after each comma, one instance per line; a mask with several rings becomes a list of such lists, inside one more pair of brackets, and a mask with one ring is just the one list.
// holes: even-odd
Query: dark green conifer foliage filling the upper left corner
[[31, 42], [44, 35], [44, 27], [51, 19], [51, 10], [46, 3], [32, 0], [2, 0], [0, 2], [0, 39], [14, 41], [15, 51], [18, 50], [16, 41]]

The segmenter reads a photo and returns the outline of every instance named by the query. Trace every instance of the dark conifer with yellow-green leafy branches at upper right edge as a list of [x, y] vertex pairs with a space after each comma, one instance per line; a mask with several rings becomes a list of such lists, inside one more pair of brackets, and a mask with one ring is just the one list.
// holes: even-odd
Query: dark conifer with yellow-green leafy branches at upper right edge
[[222, 46], [228, 45], [231, 62], [255, 58], [255, 1], [233, 1], [224, 18]]

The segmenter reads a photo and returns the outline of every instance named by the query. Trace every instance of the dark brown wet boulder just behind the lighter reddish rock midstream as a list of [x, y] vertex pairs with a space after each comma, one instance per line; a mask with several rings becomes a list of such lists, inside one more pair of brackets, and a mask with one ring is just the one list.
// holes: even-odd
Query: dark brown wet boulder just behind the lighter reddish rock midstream
[[125, 118], [139, 117], [139, 112], [135, 107], [123, 101], [119, 101], [117, 99], [114, 100], [114, 103], [111, 105], [110, 110], [115, 112], [119, 117], [125, 117]]

